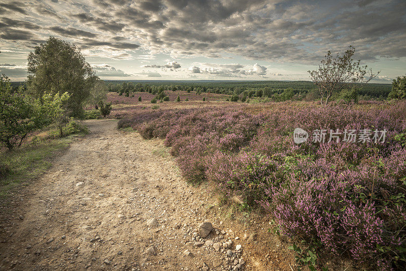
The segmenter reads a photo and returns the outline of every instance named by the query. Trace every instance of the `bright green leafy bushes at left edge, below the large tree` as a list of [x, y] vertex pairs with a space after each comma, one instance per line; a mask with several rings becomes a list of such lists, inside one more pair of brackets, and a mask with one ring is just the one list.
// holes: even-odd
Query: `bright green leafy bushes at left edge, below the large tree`
[[22, 88], [13, 92], [10, 80], [0, 77], [0, 142], [9, 150], [21, 146], [29, 133], [43, 128], [52, 121], [59, 121], [63, 114], [63, 103], [70, 98], [67, 92], [60, 95], [44, 94], [32, 98], [22, 93]]

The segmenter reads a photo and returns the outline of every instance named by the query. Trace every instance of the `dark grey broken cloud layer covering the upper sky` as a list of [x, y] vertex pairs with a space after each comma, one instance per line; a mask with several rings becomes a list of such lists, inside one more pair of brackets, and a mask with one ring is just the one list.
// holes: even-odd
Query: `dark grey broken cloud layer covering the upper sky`
[[[26, 39], [23, 45], [33, 43], [33, 34], [46, 38], [40, 25], [88, 50], [125, 51], [141, 45], [174, 58], [236, 54], [314, 64], [327, 50], [343, 52], [349, 45], [363, 60], [406, 56], [402, 0], [79, 0], [3, 6], [0, 17], [6, 17], [4, 11], [27, 15], [0, 22], [2, 38]], [[37, 17], [47, 23], [40, 24]]]

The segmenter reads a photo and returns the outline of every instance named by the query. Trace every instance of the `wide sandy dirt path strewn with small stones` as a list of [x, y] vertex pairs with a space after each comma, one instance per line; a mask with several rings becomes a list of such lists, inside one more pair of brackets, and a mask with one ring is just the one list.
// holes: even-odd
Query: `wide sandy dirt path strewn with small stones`
[[[161, 141], [116, 120], [86, 124], [91, 133], [1, 210], [1, 270], [290, 270], [278, 241], [263, 241], [274, 249], [265, 257], [261, 234], [223, 223], [216, 199], [182, 180]], [[200, 240], [204, 221], [214, 229]]]

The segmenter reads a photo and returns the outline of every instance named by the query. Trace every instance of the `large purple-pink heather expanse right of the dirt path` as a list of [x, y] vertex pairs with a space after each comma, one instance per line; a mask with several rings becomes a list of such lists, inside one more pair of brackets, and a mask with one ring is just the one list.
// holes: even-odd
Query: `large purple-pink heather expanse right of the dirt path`
[[[283, 233], [378, 269], [406, 265], [406, 103], [312, 103], [134, 114], [144, 138], [172, 146], [190, 181], [210, 180], [263, 208]], [[304, 142], [292, 132], [386, 129], [385, 143]]]

